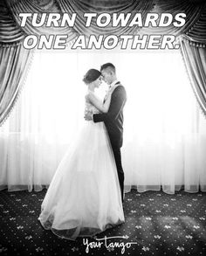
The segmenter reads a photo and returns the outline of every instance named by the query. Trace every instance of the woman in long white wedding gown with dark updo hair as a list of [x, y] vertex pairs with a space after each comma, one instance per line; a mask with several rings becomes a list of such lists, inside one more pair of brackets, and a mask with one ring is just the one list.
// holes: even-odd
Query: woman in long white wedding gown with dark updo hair
[[[106, 113], [111, 97], [103, 105], [94, 93], [101, 73], [90, 69], [83, 81], [88, 87], [85, 111]], [[52, 178], [38, 220], [45, 229], [73, 240], [124, 223], [120, 184], [104, 122], [85, 122]]]

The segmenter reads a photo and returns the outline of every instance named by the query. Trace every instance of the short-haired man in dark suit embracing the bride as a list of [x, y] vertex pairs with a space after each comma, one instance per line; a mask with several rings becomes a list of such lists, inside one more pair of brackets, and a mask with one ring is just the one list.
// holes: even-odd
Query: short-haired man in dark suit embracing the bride
[[[86, 120], [94, 122], [104, 121], [113, 148], [113, 156], [117, 166], [117, 173], [120, 182], [121, 200], [124, 198], [124, 171], [121, 165], [120, 148], [123, 142], [123, 107], [127, 100], [124, 86], [117, 80], [115, 66], [106, 63], [100, 67], [103, 80], [109, 85], [112, 92], [110, 107], [107, 113], [86, 114]], [[109, 93], [109, 92], [108, 92]], [[106, 99], [105, 99], [106, 100]], [[104, 100], [104, 102], [105, 102]]]

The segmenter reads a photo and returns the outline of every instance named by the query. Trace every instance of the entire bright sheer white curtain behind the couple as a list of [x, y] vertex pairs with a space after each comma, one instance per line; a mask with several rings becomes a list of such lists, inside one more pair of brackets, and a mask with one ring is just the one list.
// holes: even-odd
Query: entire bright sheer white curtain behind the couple
[[[0, 189], [42, 190], [84, 122], [83, 75], [112, 62], [127, 90], [125, 189], [206, 190], [206, 121], [178, 51], [36, 52], [0, 128]], [[100, 88], [104, 97], [106, 86]], [[89, 147], [89, 145], [88, 145]], [[80, 159], [79, 159], [80, 161]]]

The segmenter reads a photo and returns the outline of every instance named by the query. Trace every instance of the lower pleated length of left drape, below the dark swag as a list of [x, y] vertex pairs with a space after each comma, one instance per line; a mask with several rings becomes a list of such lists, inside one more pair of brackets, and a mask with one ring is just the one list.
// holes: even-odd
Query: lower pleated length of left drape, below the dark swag
[[10, 114], [31, 64], [32, 52], [23, 45], [0, 47], [0, 124]]

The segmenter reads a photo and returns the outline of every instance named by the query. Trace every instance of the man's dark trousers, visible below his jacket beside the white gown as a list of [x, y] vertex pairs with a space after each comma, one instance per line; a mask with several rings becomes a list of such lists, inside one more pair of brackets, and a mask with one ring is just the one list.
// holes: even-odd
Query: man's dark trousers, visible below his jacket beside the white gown
[[121, 165], [120, 148], [117, 146], [114, 146], [113, 144], [112, 144], [112, 148], [113, 148], [113, 156], [114, 156], [116, 167], [117, 167], [117, 174], [118, 174], [119, 182], [120, 182], [121, 201], [123, 203], [125, 176], [124, 176], [124, 171], [123, 171], [123, 168]]

